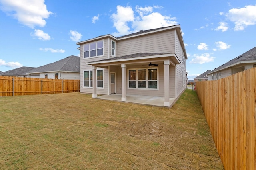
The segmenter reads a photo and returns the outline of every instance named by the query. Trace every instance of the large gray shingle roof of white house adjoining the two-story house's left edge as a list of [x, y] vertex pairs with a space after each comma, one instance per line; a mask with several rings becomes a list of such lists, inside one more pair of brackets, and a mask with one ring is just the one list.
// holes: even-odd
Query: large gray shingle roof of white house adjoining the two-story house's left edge
[[44, 66], [40, 66], [29, 70], [26, 73], [40, 73], [40, 72], [54, 72], [54, 71], [63, 71], [63, 72], [80, 72], [80, 57], [78, 56], [68, 56], [64, 59], [50, 63]]

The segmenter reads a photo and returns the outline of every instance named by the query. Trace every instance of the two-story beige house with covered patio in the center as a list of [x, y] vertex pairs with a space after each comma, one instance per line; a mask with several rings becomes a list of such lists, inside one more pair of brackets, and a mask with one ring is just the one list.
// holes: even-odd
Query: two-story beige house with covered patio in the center
[[80, 92], [144, 95], [177, 99], [186, 89], [186, 50], [180, 25], [141, 30], [122, 37], [110, 34], [80, 45]]

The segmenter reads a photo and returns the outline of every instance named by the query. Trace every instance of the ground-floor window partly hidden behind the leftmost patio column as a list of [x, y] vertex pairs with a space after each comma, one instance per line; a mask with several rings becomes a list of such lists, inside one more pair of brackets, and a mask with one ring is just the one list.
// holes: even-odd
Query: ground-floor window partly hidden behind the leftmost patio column
[[[103, 70], [97, 70], [97, 88], [104, 88]], [[84, 70], [84, 87], [92, 88], [92, 70]]]

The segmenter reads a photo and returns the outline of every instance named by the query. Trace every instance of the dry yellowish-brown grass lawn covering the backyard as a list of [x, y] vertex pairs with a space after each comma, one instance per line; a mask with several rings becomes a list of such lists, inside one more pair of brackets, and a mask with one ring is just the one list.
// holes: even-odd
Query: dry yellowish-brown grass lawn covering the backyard
[[195, 92], [171, 109], [80, 93], [0, 98], [1, 169], [223, 169]]

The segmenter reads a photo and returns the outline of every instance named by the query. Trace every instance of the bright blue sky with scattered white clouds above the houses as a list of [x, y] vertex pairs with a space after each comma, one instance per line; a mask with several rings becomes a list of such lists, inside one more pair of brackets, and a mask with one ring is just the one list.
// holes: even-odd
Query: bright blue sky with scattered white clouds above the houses
[[255, 0], [0, 0], [0, 71], [39, 67], [76, 42], [180, 24], [188, 78], [256, 46]]

